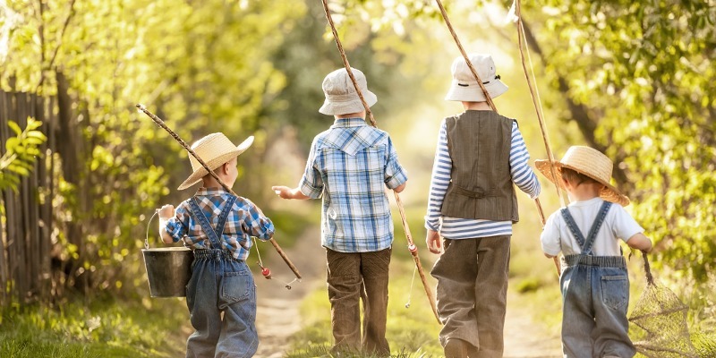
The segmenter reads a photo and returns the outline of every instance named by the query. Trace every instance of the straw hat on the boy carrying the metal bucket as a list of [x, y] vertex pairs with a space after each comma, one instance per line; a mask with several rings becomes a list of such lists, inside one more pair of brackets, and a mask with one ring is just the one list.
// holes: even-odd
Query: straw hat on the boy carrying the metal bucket
[[[253, 136], [247, 138], [246, 141], [243, 141], [238, 146], [234, 146], [234, 143], [229, 141], [224, 133], [211, 133], [199, 141], [194, 142], [194, 144], [192, 144], [192, 150], [209, 166], [209, 169], [214, 170], [229, 160], [236, 158], [239, 154], [243, 153], [244, 150], [249, 149], [251, 143], [253, 143]], [[204, 166], [201, 166], [199, 160], [194, 158], [191, 154], [189, 155], [189, 161], [192, 163], [193, 173], [179, 185], [178, 190], [184, 190], [195, 183], [199, 183], [204, 175], [209, 174], [207, 170], [204, 169]]]

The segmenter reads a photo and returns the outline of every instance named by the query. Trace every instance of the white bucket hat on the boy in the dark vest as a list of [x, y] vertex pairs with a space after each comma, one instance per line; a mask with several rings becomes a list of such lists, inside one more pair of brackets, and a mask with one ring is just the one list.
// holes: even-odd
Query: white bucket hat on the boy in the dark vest
[[[495, 62], [492, 56], [483, 54], [467, 55], [473, 64], [475, 72], [480, 76], [485, 90], [490, 94], [490, 98], [496, 98], [507, 91], [507, 85], [499, 81], [499, 75], [495, 69]], [[485, 102], [485, 94], [482, 92], [480, 85], [475, 80], [473, 72], [465, 63], [465, 57], [459, 56], [453, 61], [450, 70], [453, 74], [453, 81], [450, 90], [447, 91], [445, 100], [465, 101], [465, 102]]]

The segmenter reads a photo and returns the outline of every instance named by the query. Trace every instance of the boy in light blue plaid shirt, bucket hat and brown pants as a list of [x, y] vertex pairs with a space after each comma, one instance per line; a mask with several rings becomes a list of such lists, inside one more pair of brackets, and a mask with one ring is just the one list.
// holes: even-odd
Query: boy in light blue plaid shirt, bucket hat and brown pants
[[[353, 69], [368, 106], [377, 98]], [[333, 352], [388, 356], [388, 264], [393, 221], [385, 188], [402, 192], [407, 175], [387, 132], [365, 123], [365, 108], [345, 69], [323, 80], [319, 112], [336, 120], [313, 139], [298, 187], [273, 186], [284, 199], [323, 198], [321, 244], [328, 261]], [[362, 337], [359, 300], [362, 299]]]

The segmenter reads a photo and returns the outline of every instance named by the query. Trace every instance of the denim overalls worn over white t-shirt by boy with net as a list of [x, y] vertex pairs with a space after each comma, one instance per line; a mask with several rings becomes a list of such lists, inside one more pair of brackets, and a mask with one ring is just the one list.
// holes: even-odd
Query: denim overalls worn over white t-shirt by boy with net
[[569, 231], [582, 253], [565, 256], [567, 268], [559, 278], [562, 288], [562, 349], [568, 358], [633, 357], [627, 336], [629, 277], [623, 256], [593, 256], [592, 245], [609, 212], [605, 201], [587, 238], [567, 208], [561, 209]]

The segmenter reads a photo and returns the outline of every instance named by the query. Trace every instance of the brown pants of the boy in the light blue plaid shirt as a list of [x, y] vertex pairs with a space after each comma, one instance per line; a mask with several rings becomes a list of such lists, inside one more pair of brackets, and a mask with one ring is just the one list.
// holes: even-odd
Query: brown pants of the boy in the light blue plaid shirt
[[[362, 351], [390, 355], [386, 339], [388, 266], [391, 249], [338, 252], [326, 249], [328, 300], [334, 353]], [[360, 299], [363, 303], [361, 339]]]

